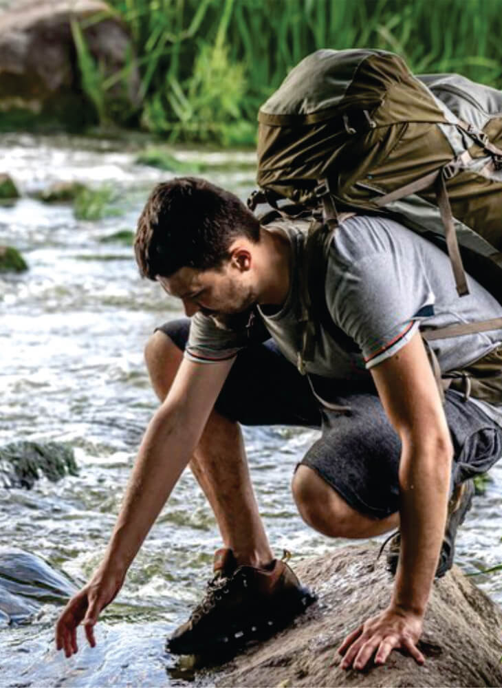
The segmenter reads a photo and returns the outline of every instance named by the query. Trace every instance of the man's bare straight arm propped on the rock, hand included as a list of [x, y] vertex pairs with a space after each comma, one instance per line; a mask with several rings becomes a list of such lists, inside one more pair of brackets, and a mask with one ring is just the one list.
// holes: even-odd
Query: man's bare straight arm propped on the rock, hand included
[[416, 643], [444, 537], [453, 454], [437, 384], [418, 332], [396, 354], [375, 365], [371, 374], [402, 442], [401, 551], [389, 607], [360, 625], [339, 648], [345, 669], [362, 669], [373, 655], [376, 664], [383, 664], [393, 649], [404, 649], [424, 663]]

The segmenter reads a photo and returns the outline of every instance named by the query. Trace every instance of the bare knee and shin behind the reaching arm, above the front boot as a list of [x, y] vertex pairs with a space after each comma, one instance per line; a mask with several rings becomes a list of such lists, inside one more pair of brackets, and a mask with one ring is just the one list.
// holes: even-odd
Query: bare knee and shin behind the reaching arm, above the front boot
[[[183, 354], [164, 332], [157, 331], [145, 349], [155, 394], [162, 401]], [[190, 469], [206, 495], [223, 544], [239, 564], [265, 566], [273, 559], [252, 488], [239, 423], [212, 411], [195, 449]]]

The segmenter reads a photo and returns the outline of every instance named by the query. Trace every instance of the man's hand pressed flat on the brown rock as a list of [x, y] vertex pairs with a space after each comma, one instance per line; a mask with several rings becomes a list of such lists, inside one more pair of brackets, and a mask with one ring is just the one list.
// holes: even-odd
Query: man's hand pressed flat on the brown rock
[[418, 664], [424, 664], [424, 655], [416, 647], [421, 634], [422, 616], [391, 605], [345, 638], [338, 648], [344, 655], [342, 669], [364, 669], [375, 652], [375, 664], [384, 664], [393, 649], [404, 649]]

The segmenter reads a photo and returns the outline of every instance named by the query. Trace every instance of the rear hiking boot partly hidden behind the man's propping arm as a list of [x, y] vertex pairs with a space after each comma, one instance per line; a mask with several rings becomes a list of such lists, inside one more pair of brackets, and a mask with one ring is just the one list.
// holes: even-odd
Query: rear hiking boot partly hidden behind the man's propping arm
[[[474, 481], [466, 480], [466, 482], [457, 485], [453, 491], [450, 501], [448, 502], [448, 519], [446, 520], [446, 528], [444, 531], [443, 544], [441, 546], [441, 553], [439, 555], [439, 563], [435, 572], [436, 578], [441, 578], [444, 574], [452, 568], [453, 557], [455, 557], [455, 537], [457, 537], [457, 530], [460, 524], [466, 518], [466, 513], [472, 506], [472, 497], [474, 496]], [[382, 545], [382, 552], [386, 542]], [[399, 530], [389, 541], [389, 548], [387, 550], [387, 570], [393, 575], [397, 570], [397, 562], [399, 561], [399, 552], [401, 547], [401, 533]], [[380, 555], [379, 555], [380, 556]]]

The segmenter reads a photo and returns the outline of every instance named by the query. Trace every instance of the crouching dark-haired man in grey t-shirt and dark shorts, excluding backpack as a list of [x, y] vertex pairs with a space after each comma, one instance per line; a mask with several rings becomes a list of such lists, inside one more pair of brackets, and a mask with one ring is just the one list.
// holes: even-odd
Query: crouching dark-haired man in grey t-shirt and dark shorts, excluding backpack
[[[248, 475], [243, 422], [322, 428], [292, 482], [307, 524], [330, 537], [400, 530], [389, 607], [347, 636], [342, 666], [362, 669], [372, 657], [384, 663], [395, 648], [424, 662], [416, 643], [433, 578], [452, 565], [470, 479], [501, 455], [502, 409], [452, 389], [443, 405], [419, 326], [488, 320], [501, 308], [473, 279], [470, 295], [459, 299], [448, 257], [426, 239], [389, 219], [352, 217], [334, 234], [325, 280], [340, 341], [321, 323], [302, 376], [292, 364], [304, 239], [294, 223], [261, 226], [234, 195], [204, 180], [173, 180], [151, 194], [135, 241], [140, 272], [182, 299], [193, 317], [160, 327], [146, 347], [162, 403], [105, 557], [58, 621], [57, 647], [67, 656], [77, 651], [82, 621], [94, 646], [98, 615], [190, 460], [224, 548], [204, 600], [171, 637], [171, 652], [224, 644], [237, 621], [237, 636], [252, 634], [254, 617], [263, 621], [265, 611], [273, 627], [312, 601], [272, 555]], [[496, 330], [439, 339], [434, 350], [450, 371], [487, 354], [500, 358], [501, 342]], [[502, 406], [502, 396], [495, 401]]]

